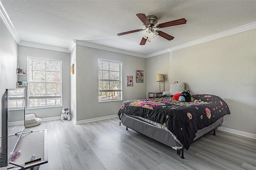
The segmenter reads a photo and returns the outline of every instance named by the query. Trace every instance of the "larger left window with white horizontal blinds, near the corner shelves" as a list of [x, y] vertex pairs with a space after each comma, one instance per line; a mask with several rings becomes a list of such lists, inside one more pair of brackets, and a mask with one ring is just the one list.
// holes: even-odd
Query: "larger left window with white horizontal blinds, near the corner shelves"
[[61, 61], [28, 57], [28, 109], [62, 106]]

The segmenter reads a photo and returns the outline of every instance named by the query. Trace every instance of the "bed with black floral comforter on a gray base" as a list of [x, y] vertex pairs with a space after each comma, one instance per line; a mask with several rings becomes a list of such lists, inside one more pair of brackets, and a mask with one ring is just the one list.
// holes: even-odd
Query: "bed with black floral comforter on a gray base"
[[216, 95], [191, 95], [191, 102], [173, 99], [173, 95], [124, 101], [118, 111], [121, 123], [158, 142], [183, 150], [193, 141], [223, 124], [230, 114], [226, 102]]

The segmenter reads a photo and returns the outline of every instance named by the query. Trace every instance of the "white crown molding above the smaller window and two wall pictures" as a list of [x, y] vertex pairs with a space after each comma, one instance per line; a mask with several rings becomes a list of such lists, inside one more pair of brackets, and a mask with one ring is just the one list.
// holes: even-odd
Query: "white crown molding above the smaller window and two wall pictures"
[[112, 48], [112, 47], [106, 47], [106, 46], [103, 46], [103, 45], [97, 45], [97, 44], [93, 44], [93, 43], [87, 43], [87, 42], [83, 42], [83, 41], [80, 41], [80, 40], [73, 40], [73, 42], [74, 42], [76, 45], [82, 45], [82, 46], [86, 46], [86, 47], [91, 47], [91, 48], [96, 48], [96, 49], [102, 49], [102, 50], [105, 50], [105, 51], [112, 51], [112, 52], [116, 52], [116, 53], [121, 53], [121, 54], [126, 54], [126, 55], [132, 55], [132, 56], [142, 57], [142, 58], [145, 58], [145, 57], [146, 57], [145, 55], [142, 55], [142, 54], [133, 53], [133, 52], [130, 52], [130, 51], [125, 51], [125, 50], [122, 50], [122, 49], [116, 49], [116, 48]]

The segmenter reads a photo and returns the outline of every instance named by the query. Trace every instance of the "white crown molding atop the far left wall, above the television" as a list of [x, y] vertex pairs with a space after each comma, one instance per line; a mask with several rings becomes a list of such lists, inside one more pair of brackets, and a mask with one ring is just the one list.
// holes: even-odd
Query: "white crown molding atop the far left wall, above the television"
[[4, 24], [6, 25], [6, 27], [8, 28], [8, 30], [10, 31], [10, 33], [12, 34], [12, 37], [14, 38], [16, 43], [19, 44], [21, 42], [20, 36], [18, 36], [18, 34], [12, 24], [12, 21], [10, 20], [10, 17], [8, 15], [8, 13], [6, 12], [1, 1], [0, 1], [0, 17], [1, 17], [2, 21], [4, 22]]

